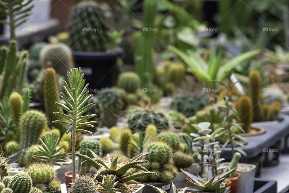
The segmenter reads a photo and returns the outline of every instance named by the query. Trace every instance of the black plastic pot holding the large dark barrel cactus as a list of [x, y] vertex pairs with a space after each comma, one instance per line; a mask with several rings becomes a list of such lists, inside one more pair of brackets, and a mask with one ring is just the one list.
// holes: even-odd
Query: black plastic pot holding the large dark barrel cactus
[[81, 67], [85, 83], [89, 83], [89, 90], [97, 92], [101, 88], [111, 87], [117, 78], [117, 61], [123, 55], [118, 52], [79, 52], [73, 51], [74, 62]]

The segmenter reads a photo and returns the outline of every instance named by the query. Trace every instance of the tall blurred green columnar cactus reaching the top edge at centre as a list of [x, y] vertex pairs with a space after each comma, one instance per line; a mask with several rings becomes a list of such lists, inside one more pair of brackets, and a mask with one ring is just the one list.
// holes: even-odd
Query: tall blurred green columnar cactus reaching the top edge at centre
[[[138, 45], [135, 71], [143, 84], [152, 83], [154, 76], [154, 62], [152, 49], [155, 31], [154, 21], [157, 13], [157, 2], [155, 0], [144, 1], [144, 26], [142, 39]], [[147, 78], [146, 76], [150, 76]], [[142, 85], [144, 86], [144, 85]]]

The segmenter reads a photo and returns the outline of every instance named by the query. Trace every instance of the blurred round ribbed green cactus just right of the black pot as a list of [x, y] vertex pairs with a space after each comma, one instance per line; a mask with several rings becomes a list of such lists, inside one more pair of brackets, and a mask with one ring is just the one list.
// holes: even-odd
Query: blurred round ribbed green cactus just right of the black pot
[[140, 87], [140, 79], [133, 72], [124, 72], [120, 74], [117, 85], [127, 93], [135, 93], [138, 87]]

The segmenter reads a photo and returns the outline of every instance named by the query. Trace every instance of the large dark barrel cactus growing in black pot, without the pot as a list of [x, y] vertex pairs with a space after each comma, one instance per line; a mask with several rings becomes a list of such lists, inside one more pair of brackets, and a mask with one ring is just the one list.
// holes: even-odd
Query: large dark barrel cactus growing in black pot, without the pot
[[107, 49], [106, 45], [111, 42], [107, 36], [109, 22], [98, 3], [80, 2], [71, 16], [68, 24], [68, 45], [74, 51], [103, 52]]

